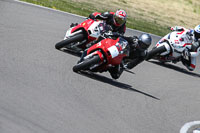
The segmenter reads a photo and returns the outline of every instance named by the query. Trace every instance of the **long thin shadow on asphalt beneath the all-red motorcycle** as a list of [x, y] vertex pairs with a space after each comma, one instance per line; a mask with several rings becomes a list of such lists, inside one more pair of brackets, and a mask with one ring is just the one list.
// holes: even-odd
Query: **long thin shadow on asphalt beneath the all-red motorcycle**
[[107, 78], [105, 76], [98, 75], [96, 73], [82, 71], [82, 72], [80, 72], [78, 74], [86, 76], [86, 77], [89, 77], [89, 78], [97, 80], [97, 81], [101, 81], [103, 83], [107, 83], [107, 84], [113, 85], [113, 86], [121, 88], [121, 89], [138, 92], [140, 94], [143, 94], [145, 96], [151, 97], [153, 99], [160, 100], [159, 98], [157, 98], [155, 96], [152, 96], [150, 94], [147, 94], [145, 92], [139, 91], [139, 90], [133, 88], [132, 86], [130, 86], [128, 84], [118, 82], [117, 80], [113, 80], [113, 79]]

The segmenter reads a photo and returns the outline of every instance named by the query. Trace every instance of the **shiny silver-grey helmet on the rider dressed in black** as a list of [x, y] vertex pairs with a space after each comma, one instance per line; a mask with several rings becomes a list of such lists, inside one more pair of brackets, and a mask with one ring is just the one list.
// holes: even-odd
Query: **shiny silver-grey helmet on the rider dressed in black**
[[138, 47], [140, 50], [144, 51], [151, 45], [152, 38], [149, 34], [143, 33], [138, 38]]

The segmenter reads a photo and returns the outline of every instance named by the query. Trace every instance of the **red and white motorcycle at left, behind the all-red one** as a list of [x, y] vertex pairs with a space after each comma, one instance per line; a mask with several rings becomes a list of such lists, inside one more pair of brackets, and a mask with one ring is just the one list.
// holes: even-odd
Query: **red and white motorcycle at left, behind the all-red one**
[[86, 45], [96, 40], [109, 26], [103, 20], [87, 19], [80, 24], [73, 24], [67, 30], [64, 40], [55, 45], [56, 49], [83, 51]]

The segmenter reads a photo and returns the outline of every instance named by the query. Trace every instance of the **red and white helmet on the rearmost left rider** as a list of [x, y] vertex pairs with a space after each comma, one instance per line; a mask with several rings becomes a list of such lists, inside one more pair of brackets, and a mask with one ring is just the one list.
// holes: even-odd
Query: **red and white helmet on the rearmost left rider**
[[122, 9], [117, 10], [113, 17], [115, 26], [123, 25], [126, 22], [126, 18], [127, 15], [124, 10]]

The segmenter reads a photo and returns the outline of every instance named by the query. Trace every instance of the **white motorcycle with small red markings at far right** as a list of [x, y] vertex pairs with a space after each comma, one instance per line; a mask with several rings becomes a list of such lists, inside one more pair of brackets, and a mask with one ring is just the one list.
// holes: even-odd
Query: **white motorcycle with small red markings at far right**
[[[148, 53], [146, 60], [151, 58], [160, 62], [177, 63], [183, 58], [187, 59], [192, 46], [193, 35], [187, 31], [173, 31], [158, 41], [155, 47]], [[199, 55], [200, 48], [197, 49]]]

